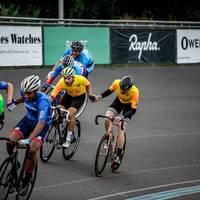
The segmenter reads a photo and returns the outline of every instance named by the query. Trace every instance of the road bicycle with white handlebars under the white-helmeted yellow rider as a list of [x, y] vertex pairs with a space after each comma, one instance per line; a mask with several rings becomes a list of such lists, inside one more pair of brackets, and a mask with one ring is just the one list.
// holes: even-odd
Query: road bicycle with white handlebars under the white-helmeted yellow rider
[[81, 136], [81, 125], [78, 119], [75, 120], [75, 127], [74, 127], [74, 136], [76, 141], [68, 148], [62, 147], [62, 144], [66, 141], [67, 137], [67, 122], [68, 122], [68, 115], [69, 111], [63, 108], [54, 107], [52, 106], [52, 123], [49, 127], [49, 130], [46, 134], [44, 139], [43, 145], [40, 148], [40, 159], [43, 162], [47, 162], [51, 156], [55, 148], [62, 149], [62, 155], [66, 160], [72, 158], [75, 154]]

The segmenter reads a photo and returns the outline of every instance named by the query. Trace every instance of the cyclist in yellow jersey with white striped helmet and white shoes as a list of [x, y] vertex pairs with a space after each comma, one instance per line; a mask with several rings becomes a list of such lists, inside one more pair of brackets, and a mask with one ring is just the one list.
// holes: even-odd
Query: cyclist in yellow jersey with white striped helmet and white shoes
[[92, 95], [92, 87], [90, 81], [80, 75], [75, 75], [73, 68], [65, 68], [62, 70], [62, 78], [58, 81], [49, 98], [53, 102], [61, 90], [65, 90], [65, 94], [62, 97], [59, 107], [68, 109], [69, 122], [67, 123], [67, 138], [63, 143], [64, 148], [68, 148], [70, 143], [74, 143], [76, 138], [74, 137], [74, 124], [75, 115], [85, 99], [85, 92], [88, 95]]

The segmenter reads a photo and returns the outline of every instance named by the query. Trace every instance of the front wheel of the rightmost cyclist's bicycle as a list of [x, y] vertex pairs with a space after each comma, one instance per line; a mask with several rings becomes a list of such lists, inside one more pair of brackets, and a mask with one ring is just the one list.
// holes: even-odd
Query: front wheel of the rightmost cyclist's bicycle
[[108, 154], [109, 154], [109, 146], [110, 146], [109, 135], [104, 134], [99, 143], [96, 158], [95, 158], [95, 174], [96, 176], [100, 176], [105, 169]]

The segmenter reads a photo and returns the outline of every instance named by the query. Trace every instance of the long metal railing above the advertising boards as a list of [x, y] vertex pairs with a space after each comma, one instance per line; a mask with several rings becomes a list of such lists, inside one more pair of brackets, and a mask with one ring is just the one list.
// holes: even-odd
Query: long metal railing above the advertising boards
[[151, 20], [96, 20], [54, 19], [0, 16], [1, 25], [51, 25], [51, 26], [95, 26], [95, 27], [150, 27], [150, 28], [200, 28], [194, 21], [151, 21]]

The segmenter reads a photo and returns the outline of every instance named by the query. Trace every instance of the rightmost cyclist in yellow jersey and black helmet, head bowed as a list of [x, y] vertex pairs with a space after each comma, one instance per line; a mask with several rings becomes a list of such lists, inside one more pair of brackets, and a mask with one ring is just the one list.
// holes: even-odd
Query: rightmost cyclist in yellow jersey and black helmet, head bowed
[[[112, 104], [107, 109], [105, 115], [110, 119], [115, 119], [115, 122], [119, 124], [118, 127], [118, 141], [117, 141], [117, 155], [115, 157], [114, 163], [120, 162], [120, 155], [124, 146], [124, 131], [127, 127], [128, 122], [131, 120], [132, 116], [136, 113], [138, 101], [139, 101], [139, 90], [133, 85], [133, 78], [131, 76], [124, 76], [121, 80], [116, 79], [109, 89], [96, 96], [93, 95], [91, 100], [99, 101], [100, 99], [110, 95], [112, 92], [116, 92], [117, 97], [112, 102]], [[116, 117], [117, 114], [121, 113], [121, 117]], [[121, 129], [120, 120], [124, 119], [124, 129]], [[110, 121], [105, 121], [105, 128], [108, 132]]]

